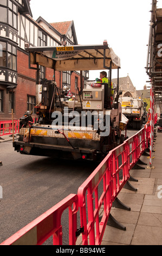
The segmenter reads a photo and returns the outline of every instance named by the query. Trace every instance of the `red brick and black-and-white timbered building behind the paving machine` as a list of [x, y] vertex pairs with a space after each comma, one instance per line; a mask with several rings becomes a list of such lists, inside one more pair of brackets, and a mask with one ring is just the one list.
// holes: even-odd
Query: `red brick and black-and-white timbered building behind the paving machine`
[[[34, 1], [34, 0], [32, 0]], [[56, 71], [43, 66], [30, 66], [29, 46], [77, 45], [73, 21], [48, 23], [39, 17], [32, 18], [30, 0], [1, 0], [0, 2], [0, 120], [19, 119], [25, 111], [36, 105], [36, 84], [42, 78], [52, 80], [57, 87], [69, 86], [75, 93], [80, 88], [80, 72]], [[82, 72], [82, 87], [88, 71]], [[33, 117], [35, 117], [33, 115]]]

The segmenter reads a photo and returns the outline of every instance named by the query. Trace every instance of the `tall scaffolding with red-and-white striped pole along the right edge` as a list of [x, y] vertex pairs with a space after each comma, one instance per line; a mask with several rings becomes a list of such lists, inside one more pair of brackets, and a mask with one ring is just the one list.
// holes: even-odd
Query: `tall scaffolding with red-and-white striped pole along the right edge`
[[150, 89], [150, 168], [152, 168], [152, 151], [154, 135], [154, 105], [162, 104], [162, 9], [157, 8], [157, 0], [152, 0], [150, 33], [146, 73], [151, 84]]

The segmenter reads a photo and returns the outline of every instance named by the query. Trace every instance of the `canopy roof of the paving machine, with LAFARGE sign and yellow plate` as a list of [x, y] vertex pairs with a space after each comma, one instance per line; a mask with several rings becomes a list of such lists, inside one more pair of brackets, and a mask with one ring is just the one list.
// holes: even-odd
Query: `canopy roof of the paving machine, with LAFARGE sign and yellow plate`
[[120, 58], [107, 42], [103, 45], [69, 45], [29, 47], [30, 64], [38, 64], [56, 71], [102, 70], [120, 68]]

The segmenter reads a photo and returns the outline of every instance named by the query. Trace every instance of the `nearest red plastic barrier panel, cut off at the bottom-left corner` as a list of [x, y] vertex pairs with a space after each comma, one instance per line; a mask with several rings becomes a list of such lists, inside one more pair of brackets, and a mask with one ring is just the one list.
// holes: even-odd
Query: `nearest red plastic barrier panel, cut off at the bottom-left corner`
[[53, 245], [62, 245], [61, 216], [67, 208], [69, 208], [69, 245], [75, 245], [78, 211], [76, 194], [70, 194], [64, 198], [33, 222], [2, 242], [1, 245], [42, 245], [51, 235], [53, 235]]

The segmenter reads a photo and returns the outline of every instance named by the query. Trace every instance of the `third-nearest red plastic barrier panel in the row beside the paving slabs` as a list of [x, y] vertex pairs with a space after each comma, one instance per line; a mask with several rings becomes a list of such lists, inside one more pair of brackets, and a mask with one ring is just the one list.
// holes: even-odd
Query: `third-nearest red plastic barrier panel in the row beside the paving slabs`
[[127, 144], [123, 143], [119, 145], [111, 150], [109, 154], [112, 155], [112, 193], [114, 201], [130, 177], [128, 170]]

